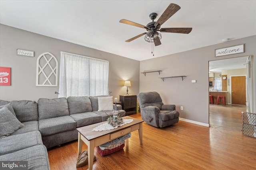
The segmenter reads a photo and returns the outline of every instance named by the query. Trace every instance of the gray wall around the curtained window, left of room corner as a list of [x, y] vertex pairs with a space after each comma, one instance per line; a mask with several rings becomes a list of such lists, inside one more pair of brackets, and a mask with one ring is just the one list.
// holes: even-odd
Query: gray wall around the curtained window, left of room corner
[[[16, 49], [34, 51], [35, 57], [16, 55]], [[0, 86], [0, 99], [37, 102], [39, 98], [57, 98], [54, 92], [59, 87], [36, 86], [36, 59], [50, 52], [60, 63], [60, 51], [108, 60], [108, 88], [118, 101], [119, 95], [126, 94], [124, 80], [131, 81], [129, 94], [138, 94], [139, 61], [0, 24], [0, 66], [11, 67], [12, 76], [11, 86]]]

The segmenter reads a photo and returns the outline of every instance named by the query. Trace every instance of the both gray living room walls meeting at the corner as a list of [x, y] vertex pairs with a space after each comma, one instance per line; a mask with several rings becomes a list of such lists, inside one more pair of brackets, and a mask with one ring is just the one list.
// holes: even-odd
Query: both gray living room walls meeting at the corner
[[[245, 53], [214, 57], [215, 49], [243, 43]], [[123, 83], [130, 80], [132, 86], [129, 87], [129, 94], [157, 91], [165, 104], [176, 104], [181, 118], [208, 124], [208, 61], [254, 55], [255, 47], [256, 36], [252, 36], [139, 62], [0, 24], [0, 66], [12, 68], [12, 85], [0, 86], [0, 99], [37, 101], [38, 98], [57, 98], [54, 92], [58, 92], [58, 87], [36, 86], [36, 59], [40, 54], [50, 52], [60, 62], [60, 51], [64, 51], [108, 60], [109, 91], [114, 98], [119, 100], [119, 95], [126, 94]], [[16, 49], [34, 51], [35, 57], [16, 55]], [[146, 76], [140, 73], [152, 70], [162, 72], [160, 75], [154, 72]], [[166, 78], [164, 82], [159, 78], [169, 76], [187, 77], [183, 81], [181, 78]], [[191, 80], [196, 80], [196, 83], [191, 83]], [[254, 79], [254, 89], [255, 84]], [[184, 107], [183, 111], [180, 106]]]

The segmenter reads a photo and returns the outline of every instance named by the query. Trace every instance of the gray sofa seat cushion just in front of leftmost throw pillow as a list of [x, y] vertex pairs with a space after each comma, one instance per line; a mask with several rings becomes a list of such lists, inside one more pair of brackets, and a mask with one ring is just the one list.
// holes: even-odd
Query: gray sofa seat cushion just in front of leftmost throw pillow
[[0, 155], [16, 152], [35, 145], [43, 145], [39, 131], [8, 136], [0, 140]]

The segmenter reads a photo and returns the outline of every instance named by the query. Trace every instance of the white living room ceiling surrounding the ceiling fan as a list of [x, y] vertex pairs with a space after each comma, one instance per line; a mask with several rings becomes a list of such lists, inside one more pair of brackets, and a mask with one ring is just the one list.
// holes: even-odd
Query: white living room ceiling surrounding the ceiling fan
[[[125, 42], [146, 30], [121, 19], [146, 25], [170, 3], [181, 9], [161, 27], [190, 34], [162, 33], [154, 56], [144, 37]], [[256, 0], [0, 0], [0, 23], [142, 61], [256, 35], [255, 9]]]

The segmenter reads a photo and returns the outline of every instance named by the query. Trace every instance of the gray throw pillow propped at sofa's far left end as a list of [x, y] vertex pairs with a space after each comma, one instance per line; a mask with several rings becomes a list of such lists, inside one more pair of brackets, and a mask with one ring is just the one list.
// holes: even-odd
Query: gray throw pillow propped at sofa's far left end
[[6, 106], [0, 109], [0, 139], [14, 133], [21, 127], [24, 127], [24, 125]]

